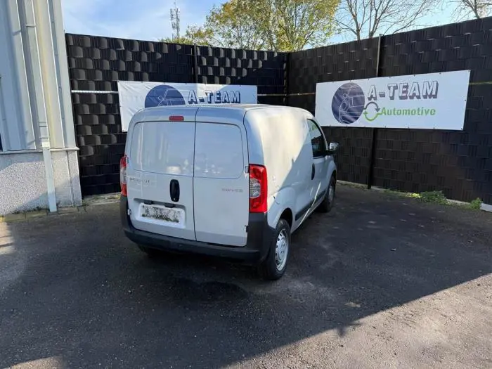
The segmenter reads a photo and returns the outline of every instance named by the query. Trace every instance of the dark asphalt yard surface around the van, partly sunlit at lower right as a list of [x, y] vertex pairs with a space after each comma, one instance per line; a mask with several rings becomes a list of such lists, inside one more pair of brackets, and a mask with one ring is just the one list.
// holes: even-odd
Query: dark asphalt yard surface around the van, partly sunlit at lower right
[[490, 368], [492, 216], [339, 186], [276, 283], [148, 259], [117, 205], [0, 224], [0, 366]]

